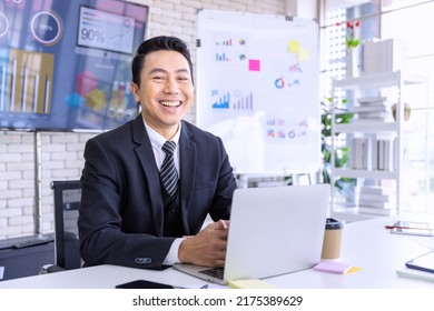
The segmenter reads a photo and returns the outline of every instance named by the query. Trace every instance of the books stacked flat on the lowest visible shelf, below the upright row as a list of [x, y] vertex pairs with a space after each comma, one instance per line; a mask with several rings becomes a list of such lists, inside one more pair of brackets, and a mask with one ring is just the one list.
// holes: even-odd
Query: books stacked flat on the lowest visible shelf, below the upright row
[[358, 212], [393, 215], [396, 211], [396, 191], [391, 187], [359, 187]]

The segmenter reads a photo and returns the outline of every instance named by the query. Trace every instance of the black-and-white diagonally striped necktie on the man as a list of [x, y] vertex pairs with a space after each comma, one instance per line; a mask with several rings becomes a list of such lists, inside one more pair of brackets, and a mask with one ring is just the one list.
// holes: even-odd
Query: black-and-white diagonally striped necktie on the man
[[178, 187], [178, 173], [175, 168], [174, 161], [174, 151], [176, 143], [171, 140], [168, 140], [162, 146], [162, 151], [166, 153], [166, 158], [162, 161], [160, 169], [160, 177], [162, 185], [166, 188], [167, 192], [174, 197]]

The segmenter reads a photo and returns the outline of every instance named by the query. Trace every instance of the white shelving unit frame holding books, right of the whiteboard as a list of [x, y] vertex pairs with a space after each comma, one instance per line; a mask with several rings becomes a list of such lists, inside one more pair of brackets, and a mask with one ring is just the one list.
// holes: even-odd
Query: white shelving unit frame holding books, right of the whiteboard
[[[395, 72], [384, 72], [377, 74], [362, 76], [356, 78], [349, 78], [344, 80], [334, 80], [333, 81], [333, 103], [336, 102], [336, 93], [338, 90], [342, 91], [353, 91], [354, 102], [357, 102], [358, 98], [366, 97], [366, 93], [371, 94], [374, 92], [378, 97], [382, 96], [383, 91], [388, 88], [394, 88], [394, 103], [396, 103], [396, 121], [392, 118], [392, 111], [389, 120], [377, 120], [377, 119], [365, 119], [365, 120], [353, 120], [349, 124], [338, 124], [336, 123], [336, 114], [339, 111], [336, 111], [332, 107], [332, 174], [331, 182], [335, 184], [337, 178], [355, 178], [357, 179], [357, 184], [362, 180], [372, 180], [371, 183], [378, 184], [383, 180], [392, 180], [395, 184], [394, 195], [395, 195], [395, 207], [391, 210], [391, 213], [398, 213], [400, 205], [403, 202], [403, 189], [402, 189], [402, 169], [403, 169], [403, 133], [404, 133], [404, 102], [403, 93], [405, 91], [405, 86], [413, 83], [424, 82], [422, 78], [407, 77], [404, 76], [402, 71]], [[396, 90], [395, 90], [396, 89]], [[392, 90], [392, 89], [389, 89]], [[348, 93], [348, 92], [347, 92]], [[389, 100], [388, 98], [386, 100]], [[354, 169], [354, 168], [336, 168], [335, 167], [335, 151], [339, 147], [336, 141], [336, 133], [345, 133], [346, 146], [349, 144], [349, 138], [353, 139], [357, 136], [366, 137], [368, 134], [377, 136], [389, 136], [394, 137], [394, 148], [393, 150], [393, 168], [391, 170], [371, 170], [371, 169]], [[353, 150], [352, 150], [353, 151]], [[354, 156], [354, 154], [352, 154]], [[352, 157], [351, 156], [351, 157]], [[331, 201], [331, 212], [332, 214], [348, 214], [351, 217], [358, 218], [373, 218], [379, 215], [382, 212], [375, 211], [372, 214], [361, 213], [358, 211], [358, 202], [353, 201], [338, 201], [337, 200], [337, 190], [334, 189], [332, 192]]]

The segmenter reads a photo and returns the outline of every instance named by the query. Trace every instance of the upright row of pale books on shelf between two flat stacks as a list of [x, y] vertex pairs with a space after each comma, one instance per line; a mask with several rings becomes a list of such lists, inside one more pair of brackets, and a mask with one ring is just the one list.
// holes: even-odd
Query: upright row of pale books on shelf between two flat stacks
[[349, 167], [354, 170], [394, 171], [396, 154], [394, 138], [378, 138], [372, 133], [351, 140]]

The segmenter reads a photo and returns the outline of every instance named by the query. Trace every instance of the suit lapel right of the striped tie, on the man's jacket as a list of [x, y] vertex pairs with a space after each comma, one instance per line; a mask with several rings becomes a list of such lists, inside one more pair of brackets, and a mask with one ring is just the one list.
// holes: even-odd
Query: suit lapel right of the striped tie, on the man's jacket
[[186, 123], [183, 123], [181, 133], [179, 137], [179, 156], [180, 156], [180, 210], [183, 214], [183, 225], [187, 234], [189, 232], [188, 225], [188, 205], [191, 200], [196, 180], [197, 168], [197, 152], [196, 142], [193, 140], [193, 134], [187, 128]]

